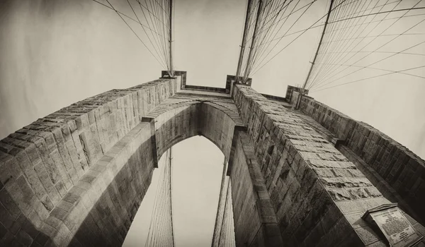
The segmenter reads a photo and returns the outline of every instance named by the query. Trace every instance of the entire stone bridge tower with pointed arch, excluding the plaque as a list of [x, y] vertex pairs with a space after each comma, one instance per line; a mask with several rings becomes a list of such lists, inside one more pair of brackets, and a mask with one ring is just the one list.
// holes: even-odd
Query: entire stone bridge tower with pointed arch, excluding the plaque
[[385, 246], [362, 216], [390, 202], [424, 234], [424, 160], [311, 97], [294, 109], [299, 88], [276, 97], [249, 83], [186, 85], [176, 71], [8, 135], [0, 245], [122, 245], [159, 157], [193, 135], [229, 161], [237, 246]]

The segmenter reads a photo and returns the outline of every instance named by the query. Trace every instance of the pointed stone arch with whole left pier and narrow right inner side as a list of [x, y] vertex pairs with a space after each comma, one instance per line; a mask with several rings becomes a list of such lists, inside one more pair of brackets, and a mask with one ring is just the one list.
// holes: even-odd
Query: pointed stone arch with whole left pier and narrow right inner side
[[[203, 135], [229, 160], [227, 175], [236, 181], [232, 200], [239, 208], [237, 244], [262, 242], [258, 232], [278, 232], [232, 96], [181, 90], [184, 75], [89, 97], [1, 140], [0, 222], [7, 228], [1, 241], [120, 246], [157, 160], [194, 135]], [[256, 224], [245, 224], [248, 218]]]

